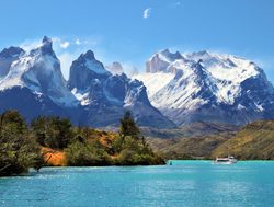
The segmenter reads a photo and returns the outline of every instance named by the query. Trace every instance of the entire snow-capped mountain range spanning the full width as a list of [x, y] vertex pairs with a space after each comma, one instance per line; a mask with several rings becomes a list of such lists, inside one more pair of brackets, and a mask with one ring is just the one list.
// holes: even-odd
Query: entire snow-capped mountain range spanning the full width
[[81, 54], [66, 81], [53, 42], [30, 51], [0, 53], [0, 112], [19, 110], [69, 117], [76, 125], [117, 126], [130, 111], [144, 127], [174, 128], [196, 122], [241, 125], [274, 118], [274, 88], [254, 62], [208, 51], [168, 49], [128, 78], [119, 62], [104, 67], [93, 51]]

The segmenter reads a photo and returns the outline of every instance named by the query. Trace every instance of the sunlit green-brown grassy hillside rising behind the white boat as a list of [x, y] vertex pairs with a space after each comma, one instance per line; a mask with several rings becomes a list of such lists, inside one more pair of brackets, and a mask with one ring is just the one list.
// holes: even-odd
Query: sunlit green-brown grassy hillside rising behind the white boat
[[244, 126], [233, 138], [217, 147], [212, 158], [233, 154], [238, 159], [274, 159], [274, 120]]

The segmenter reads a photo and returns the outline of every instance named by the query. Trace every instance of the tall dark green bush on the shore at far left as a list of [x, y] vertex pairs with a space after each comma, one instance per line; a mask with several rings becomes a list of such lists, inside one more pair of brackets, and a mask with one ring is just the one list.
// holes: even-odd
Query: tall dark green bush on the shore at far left
[[39, 168], [43, 158], [35, 137], [16, 111], [8, 111], [0, 117], [0, 176], [26, 172], [30, 166]]

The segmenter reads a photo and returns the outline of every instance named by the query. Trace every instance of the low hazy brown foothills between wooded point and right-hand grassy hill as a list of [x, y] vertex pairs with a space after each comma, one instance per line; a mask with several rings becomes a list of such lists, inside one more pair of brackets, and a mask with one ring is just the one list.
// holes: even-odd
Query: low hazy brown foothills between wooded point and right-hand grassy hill
[[142, 129], [155, 151], [165, 159], [209, 158], [212, 151], [236, 135], [238, 127], [194, 123], [176, 129]]

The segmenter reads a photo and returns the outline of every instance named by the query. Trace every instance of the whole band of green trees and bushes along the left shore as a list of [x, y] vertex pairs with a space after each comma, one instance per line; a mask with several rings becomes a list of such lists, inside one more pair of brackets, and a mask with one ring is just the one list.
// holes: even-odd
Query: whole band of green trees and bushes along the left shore
[[129, 112], [121, 119], [118, 134], [75, 127], [67, 118], [39, 116], [27, 125], [16, 111], [1, 114], [0, 176], [47, 165], [42, 147], [64, 151], [67, 165], [164, 163], [140, 136]]

